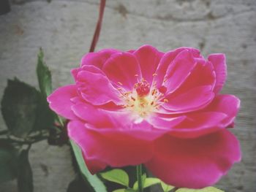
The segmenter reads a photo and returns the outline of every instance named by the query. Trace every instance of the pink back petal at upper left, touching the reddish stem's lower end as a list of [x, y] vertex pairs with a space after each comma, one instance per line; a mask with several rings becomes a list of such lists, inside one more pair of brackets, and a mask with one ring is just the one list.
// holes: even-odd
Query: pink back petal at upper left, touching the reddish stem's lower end
[[110, 58], [110, 56], [115, 53], [120, 53], [120, 51], [114, 49], [105, 49], [100, 50], [99, 52], [87, 53], [83, 56], [81, 60], [81, 66], [94, 65], [97, 66], [99, 69], [102, 69], [102, 66], [103, 64], [105, 64], [105, 61], [107, 61], [108, 58]]

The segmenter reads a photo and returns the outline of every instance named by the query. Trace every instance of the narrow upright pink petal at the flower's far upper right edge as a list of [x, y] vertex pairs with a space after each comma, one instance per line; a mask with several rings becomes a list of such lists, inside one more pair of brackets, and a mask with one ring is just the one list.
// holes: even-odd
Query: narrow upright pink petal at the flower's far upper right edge
[[227, 65], [225, 54], [211, 54], [208, 55], [208, 61], [211, 61], [211, 64], [214, 66], [216, 72], [216, 85], [214, 87], [214, 93], [219, 93], [225, 84], [227, 77]]

